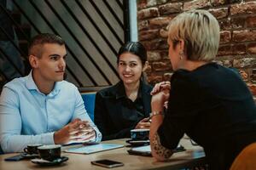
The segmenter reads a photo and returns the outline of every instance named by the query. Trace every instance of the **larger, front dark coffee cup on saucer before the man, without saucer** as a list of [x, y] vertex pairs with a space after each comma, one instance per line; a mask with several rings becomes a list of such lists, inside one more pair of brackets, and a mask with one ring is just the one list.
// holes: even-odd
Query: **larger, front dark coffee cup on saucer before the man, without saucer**
[[53, 161], [61, 157], [61, 144], [48, 144], [38, 147], [39, 156], [47, 161]]

